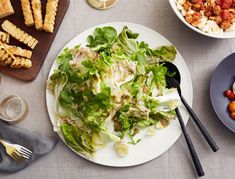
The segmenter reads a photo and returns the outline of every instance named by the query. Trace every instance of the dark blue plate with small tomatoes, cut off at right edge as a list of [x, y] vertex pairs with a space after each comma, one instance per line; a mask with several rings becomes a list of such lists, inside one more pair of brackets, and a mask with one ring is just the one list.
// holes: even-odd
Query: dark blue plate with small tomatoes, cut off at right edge
[[228, 110], [229, 99], [224, 91], [232, 87], [235, 81], [235, 53], [226, 57], [216, 68], [210, 84], [210, 98], [215, 113], [231, 131], [235, 132], [235, 120]]

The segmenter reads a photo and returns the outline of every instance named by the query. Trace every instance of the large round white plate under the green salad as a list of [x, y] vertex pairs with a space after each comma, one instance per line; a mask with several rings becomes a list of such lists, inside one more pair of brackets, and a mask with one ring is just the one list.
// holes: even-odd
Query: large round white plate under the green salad
[[[102, 26], [113, 26], [114, 28], [117, 29], [118, 32], [120, 32], [124, 26], [127, 26], [133, 32], [138, 32], [140, 34], [138, 41], [143, 40], [147, 42], [152, 48], [161, 45], [171, 44], [166, 38], [164, 38], [159, 33], [142, 25], [126, 23], [126, 22], [115, 22], [115, 23], [99, 25], [99, 27]], [[73, 48], [77, 44], [85, 46], [87, 44], [86, 42], [87, 36], [92, 34], [95, 28], [96, 27], [92, 27], [82, 32], [74, 39], [72, 39], [65, 46], [65, 48], [66, 47]], [[182, 56], [179, 53], [177, 53], [175, 64], [177, 65], [181, 73], [182, 93], [186, 98], [186, 100], [188, 101], [188, 103], [192, 104], [193, 90], [192, 90], [192, 82], [190, 74]], [[52, 65], [49, 76], [53, 73], [56, 67], [57, 67], [57, 62], [55, 61], [54, 64]], [[46, 91], [46, 102], [47, 102], [47, 109], [50, 116], [50, 120], [54, 125], [56, 122], [56, 117], [55, 117], [56, 115], [53, 111], [54, 96], [51, 95], [48, 90]], [[184, 122], [187, 123], [188, 121], [187, 112], [183, 108], [181, 108], [180, 110], [182, 112]], [[145, 136], [142, 139], [142, 141], [140, 141], [137, 145], [130, 146], [129, 155], [125, 158], [121, 158], [117, 155], [117, 153], [114, 151], [113, 143], [107, 145], [107, 147], [104, 148], [103, 150], [98, 151], [94, 159], [89, 159], [77, 152], [76, 153], [94, 163], [101, 165], [115, 166], [115, 167], [134, 166], [148, 162], [158, 157], [163, 152], [167, 151], [179, 138], [180, 134], [181, 134], [181, 128], [178, 123], [178, 120], [174, 120], [170, 123], [170, 125], [167, 128], [158, 130], [155, 136], [151, 137]], [[59, 136], [64, 141], [63, 136], [61, 134], [59, 134]]]

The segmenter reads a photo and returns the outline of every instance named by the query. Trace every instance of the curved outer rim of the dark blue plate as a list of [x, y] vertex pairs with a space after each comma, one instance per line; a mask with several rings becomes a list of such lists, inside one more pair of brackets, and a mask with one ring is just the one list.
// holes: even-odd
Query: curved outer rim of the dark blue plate
[[[232, 131], [233, 133], [235, 133], [235, 128], [233, 129], [231, 126], [227, 125], [226, 122], [225, 122], [225, 119], [224, 119], [224, 118], [221, 116], [221, 114], [215, 109], [215, 108], [216, 108], [216, 107], [215, 107], [215, 102], [214, 102], [214, 100], [213, 100], [214, 98], [212, 97], [212, 83], [213, 83], [214, 80], [215, 80], [215, 75], [216, 75], [218, 69], [220, 69], [221, 66], [222, 66], [223, 64], [225, 64], [227, 60], [230, 60], [230, 57], [231, 57], [231, 56], [235, 56], [235, 52], [232, 53], [232, 54], [230, 54], [230, 55], [228, 55], [227, 57], [225, 57], [225, 58], [216, 66], [216, 68], [215, 68], [215, 70], [214, 70], [214, 72], [213, 72], [213, 74], [212, 74], [212, 77], [211, 77], [211, 80], [210, 80], [210, 101], [211, 101], [213, 110], [214, 110], [216, 116], [219, 118], [219, 120], [220, 120], [220, 121], [224, 124], [224, 126], [226, 126], [230, 131]], [[226, 90], [226, 89], [224, 89], [224, 90]], [[222, 95], [222, 94], [221, 94], [221, 95]], [[231, 119], [231, 120], [232, 120], [232, 119]]]

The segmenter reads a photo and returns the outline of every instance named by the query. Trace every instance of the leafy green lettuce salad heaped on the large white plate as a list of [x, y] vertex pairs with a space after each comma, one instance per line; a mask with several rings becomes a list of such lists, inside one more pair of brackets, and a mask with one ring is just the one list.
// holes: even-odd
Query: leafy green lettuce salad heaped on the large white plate
[[[48, 81], [55, 97], [57, 125], [75, 151], [92, 156], [109, 142], [141, 140], [144, 129], [166, 127], [180, 105], [176, 89], [166, 87], [164, 61], [174, 46], [151, 49], [139, 34], [124, 27], [96, 28], [87, 46], [66, 48]], [[156, 39], [158, 40], [158, 39]], [[121, 147], [120, 150], [124, 150]]]

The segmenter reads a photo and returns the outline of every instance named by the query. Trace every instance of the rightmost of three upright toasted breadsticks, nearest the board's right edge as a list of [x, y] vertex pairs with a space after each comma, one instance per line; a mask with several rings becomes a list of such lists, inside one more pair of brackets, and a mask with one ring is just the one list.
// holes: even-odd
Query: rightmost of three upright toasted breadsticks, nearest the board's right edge
[[47, 0], [44, 30], [53, 33], [59, 0]]

